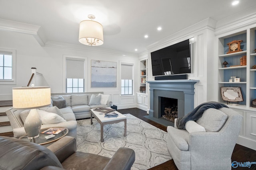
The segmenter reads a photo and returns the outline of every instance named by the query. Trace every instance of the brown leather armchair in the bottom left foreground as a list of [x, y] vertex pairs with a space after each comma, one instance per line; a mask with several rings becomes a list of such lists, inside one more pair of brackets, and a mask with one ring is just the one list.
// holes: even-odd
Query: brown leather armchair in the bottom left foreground
[[130, 170], [135, 152], [119, 148], [112, 158], [76, 152], [76, 139], [65, 136], [47, 148], [0, 136], [1, 170]]

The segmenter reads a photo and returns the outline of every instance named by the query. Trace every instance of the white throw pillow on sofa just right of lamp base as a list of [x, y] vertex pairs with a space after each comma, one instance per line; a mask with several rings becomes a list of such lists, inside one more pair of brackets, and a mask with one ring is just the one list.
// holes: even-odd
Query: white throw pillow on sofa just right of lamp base
[[51, 113], [51, 112], [47, 112], [39, 109], [37, 109], [36, 111], [40, 115], [40, 118], [42, 120], [42, 125], [60, 123], [60, 122], [66, 121], [56, 113]]

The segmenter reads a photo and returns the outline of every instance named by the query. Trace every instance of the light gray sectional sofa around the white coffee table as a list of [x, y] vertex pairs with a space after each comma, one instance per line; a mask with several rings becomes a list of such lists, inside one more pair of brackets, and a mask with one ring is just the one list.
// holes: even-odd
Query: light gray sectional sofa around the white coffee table
[[[76, 138], [76, 119], [90, 117], [91, 108], [110, 107], [112, 102], [107, 100], [108, 97], [109, 96], [104, 95], [103, 92], [52, 94], [52, 105], [49, 107], [42, 107], [39, 109], [41, 111], [38, 111], [45, 111], [42, 115], [40, 115], [41, 119], [44, 119], [44, 123], [42, 124], [41, 128], [66, 127], [68, 128], [68, 136]], [[100, 104], [99, 101], [104, 102], [104, 104]], [[59, 108], [58, 104], [62, 104], [62, 106]], [[47, 112], [49, 114], [47, 114]], [[26, 134], [23, 122], [25, 121], [28, 113], [29, 110], [16, 110], [13, 108], [6, 110], [6, 114], [13, 129], [14, 137], [19, 138], [20, 136]], [[56, 113], [57, 115], [55, 115], [55, 117], [57, 118], [52, 119], [50, 117], [51, 113]]]

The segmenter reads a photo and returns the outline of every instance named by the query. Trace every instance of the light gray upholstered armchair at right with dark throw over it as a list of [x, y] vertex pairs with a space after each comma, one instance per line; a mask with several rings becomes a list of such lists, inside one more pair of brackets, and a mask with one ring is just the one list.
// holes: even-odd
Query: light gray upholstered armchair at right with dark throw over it
[[[214, 110], [212, 111], [207, 116], [212, 118]], [[167, 127], [167, 147], [179, 170], [231, 170], [231, 156], [240, 131], [242, 115], [226, 107], [215, 111], [222, 111], [227, 115], [220, 130], [213, 132], [208, 127], [205, 128], [206, 131], [189, 133], [184, 129]], [[198, 120], [197, 123], [211, 125], [205, 118], [206, 116], [204, 122]]]

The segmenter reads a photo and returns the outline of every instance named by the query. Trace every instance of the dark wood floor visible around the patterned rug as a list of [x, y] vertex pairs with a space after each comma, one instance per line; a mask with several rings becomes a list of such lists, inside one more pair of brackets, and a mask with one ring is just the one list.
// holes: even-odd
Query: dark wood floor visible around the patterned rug
[[[138, 108], [131, 108], [131, 109], [119, 109], [118, 111], [123, 114], [130, 113], [131, 115], [134, 115], [135, 117], [138, 117], [139, 119], [142, 119], [150, 123], [151, 125], [154, 125], [159, 129], [162, 129], [163, 131], [166, 131], [165, 126], [145, 118], [144, 115], [148, 115], [148, 114], [144, 110], [141, 110]], [[236, 144], [231, 159], [232, 159], [232, 162], [233, 161], [256, 162], [256, 151]], [[163, 164], [150, 168], [150, 170], [178, 170], [178, 168], [174, 164], [173, 160], [169, 160]], [[237, 167], [237, 168], [232, 168], [232, 170], [256, 170], [256, 164], [252, 164], [250, 168]]]

